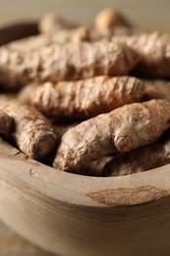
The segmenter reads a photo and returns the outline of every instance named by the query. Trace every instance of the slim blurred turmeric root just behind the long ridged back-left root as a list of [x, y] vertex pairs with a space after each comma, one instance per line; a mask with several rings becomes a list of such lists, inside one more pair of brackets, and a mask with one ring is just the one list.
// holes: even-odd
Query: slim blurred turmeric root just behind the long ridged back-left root
[[85, 27], [80, 27], [70, 31], [29, 36], [27, 38], [10, 42], [5, 45], [5, 48], [8, 47], [9, 50], [13, 51], [29, 52], [55, 43], [62, 44], [71, 41], [84, 40], [89, 40], [89, 31]]

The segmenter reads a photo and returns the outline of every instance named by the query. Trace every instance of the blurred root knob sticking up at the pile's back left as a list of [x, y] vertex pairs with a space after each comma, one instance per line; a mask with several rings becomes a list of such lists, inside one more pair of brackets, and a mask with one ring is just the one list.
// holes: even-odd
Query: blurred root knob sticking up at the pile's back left
[[57, 16], [54, 13], [45, 14], [39, 21], [39, 32], [53, 33], [62, 30], [70, 30], [79, 27], [71, 21]]

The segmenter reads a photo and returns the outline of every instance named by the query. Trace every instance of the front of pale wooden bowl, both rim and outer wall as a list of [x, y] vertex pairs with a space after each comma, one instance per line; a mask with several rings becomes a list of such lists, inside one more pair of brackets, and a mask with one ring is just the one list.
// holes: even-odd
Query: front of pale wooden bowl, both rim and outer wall
[[0, 219], [59, 255], [170, 255], [170, 164], [87, 177], [0, 141]]

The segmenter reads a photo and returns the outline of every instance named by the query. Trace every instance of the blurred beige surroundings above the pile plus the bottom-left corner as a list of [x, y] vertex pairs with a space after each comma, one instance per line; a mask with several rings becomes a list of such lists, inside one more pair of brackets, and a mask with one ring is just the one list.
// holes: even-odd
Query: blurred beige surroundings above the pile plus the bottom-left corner
[[[0, 25], [21, 20], [38, 20], [55, 12], [81, 24], [91, 24], [103, 8], [113, 7], [132, 23], [148, 30], [170, 32], [169, 0], [0, 0]], [[0, 223], [1, 256], [51, 255], [29, 244], [6, 225]]]

